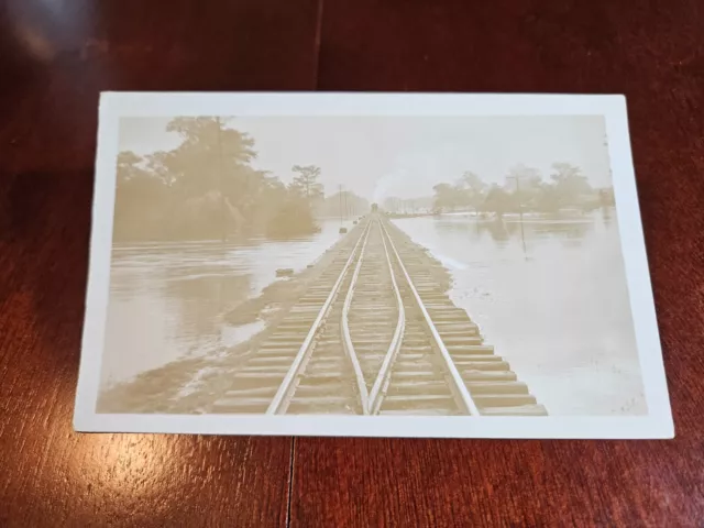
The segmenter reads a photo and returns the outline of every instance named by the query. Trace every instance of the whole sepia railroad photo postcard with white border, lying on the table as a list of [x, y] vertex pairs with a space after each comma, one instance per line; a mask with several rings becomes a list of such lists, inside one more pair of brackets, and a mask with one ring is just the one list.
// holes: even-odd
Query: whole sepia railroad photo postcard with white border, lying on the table
[[74, 425], [672, 438], [625, 98], [102, 94]]

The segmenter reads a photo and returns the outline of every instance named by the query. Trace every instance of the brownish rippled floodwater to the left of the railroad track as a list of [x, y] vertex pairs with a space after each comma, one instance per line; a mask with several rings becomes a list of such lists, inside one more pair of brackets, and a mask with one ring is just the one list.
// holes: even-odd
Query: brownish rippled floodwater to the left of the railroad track
[[276, 270], [314, 263], [339, 229], [329, 220], [320, 233], [285, 241], [114, 244], [103, 388], [182, 358], [217, 355], [258, 332], [261, 322], [235, 327], [222, 316], [272, 284]]

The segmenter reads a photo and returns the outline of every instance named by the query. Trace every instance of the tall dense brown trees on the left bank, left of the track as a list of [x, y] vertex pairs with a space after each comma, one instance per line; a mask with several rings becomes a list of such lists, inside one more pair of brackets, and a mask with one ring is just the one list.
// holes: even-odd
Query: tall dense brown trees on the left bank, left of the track
[[221, 118], [175, 118], [166, 127], [180, 143], [117, 162], [114, 238], [270, 237], [319, 230], [315, 208], [323, 200], [320, 167], [294, 165], [293, 182], [252, 167], [254, 139]]

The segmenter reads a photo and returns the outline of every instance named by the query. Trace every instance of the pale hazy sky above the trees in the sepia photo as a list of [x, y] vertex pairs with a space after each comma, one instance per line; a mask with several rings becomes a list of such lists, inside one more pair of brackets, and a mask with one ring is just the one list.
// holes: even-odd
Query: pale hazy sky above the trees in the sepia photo
[[[147, 154], [178, 145], [168, 118], [123, 118], [120, 150]], [[290, 182], [293, 165], [318, 165], [330, 194], [343, 185], [372, 201], [432, 195], [472, 170], [505, 182], [524, 164], [543, 178], [554, 162], [578, 165], [593, 186], [610, 185], [601, 116], [579, 117], [262, 117], [233, 118], [230, 127], [255, 140], [256, 168]]]

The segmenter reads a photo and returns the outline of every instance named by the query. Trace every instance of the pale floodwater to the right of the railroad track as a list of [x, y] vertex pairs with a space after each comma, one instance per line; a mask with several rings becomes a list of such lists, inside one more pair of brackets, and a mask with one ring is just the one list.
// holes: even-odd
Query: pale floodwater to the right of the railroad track
[[[394, 220], [550, 415], [647, 413], [614, 210]], [[525, 246], [525, 249], [524, 249]]]

